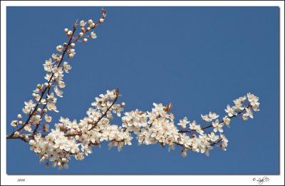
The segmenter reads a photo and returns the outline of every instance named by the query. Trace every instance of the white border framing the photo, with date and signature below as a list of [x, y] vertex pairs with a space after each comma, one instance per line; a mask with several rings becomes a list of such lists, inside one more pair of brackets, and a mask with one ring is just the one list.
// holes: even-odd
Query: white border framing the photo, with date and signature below
[[264, 185], [284, 185], [284, 1], [1, 1], [1, 185], [258, 185], [264, 175], [6, 175], [6, 6], [279, 6], [280, 175]]

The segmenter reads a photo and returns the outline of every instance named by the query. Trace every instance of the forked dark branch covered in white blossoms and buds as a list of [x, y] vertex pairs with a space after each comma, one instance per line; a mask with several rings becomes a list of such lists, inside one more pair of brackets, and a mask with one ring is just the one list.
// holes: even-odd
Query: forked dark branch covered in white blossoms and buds
[[[66, 84], [63, 74], [71, 70], [68, 59], [76, 54], [76, 43], [86, 43], [89, 38], [96, 38], [94, 29], [103, 24], [106, 11], [102, 9], [102, 16], [98, 21], [92, 19], [76, 21], [71, 30], [64, 29], [68, 41], [56, 46], [57, 53], [53, 53], [43, 64], [46, 71], [46, 82], [38, 84], [32, 93], [33, 99], [25, 101], [23, 113], [17, 120], [11, 122], [14, 132], [7, 135], [7, 139], [20, 139], [30, 145], [40, 162], [53, 162], [53, 166], [60, 169], [68, 168], [68, 160], [75, 157], [83, 160], [92, 153], [93, 146], [101, 145], [104, 141], [109, 147], [117, 147], [120, 151], [125, 145], [132, 145], [133, 138], [138, 140], [138, 145], [160, 144], [163, 148], [174, 150], [181, 148], [182, 156], [189, 151], [209, 155], [209, 150], [219, 147], [227, 149], [228, 140], [224, 126], [229, 127], [231, 120], [239, 115], [242, 120], [254, 118], [253, 112], [259, 111], [259, 98], [247, 93], [234, 100], [234, 105], [227, 105], [226, 115], [219, 119], [219, 115], [209, 112], [201, 115], [205, 123], [182, 118], [175, 125], [175, 117], [170, 110], [172, 104], [162, 105], [153, 103], [150, 111], [131, 110], [121, 112], [125, 103], [117, 103], [120, 96], [119, 89], [100, 94], [91, 103], [86, 112], [86, 117], [77, 121], [61, 117], [53, 129], [49, 129], [52, 121], [48, 112], [58, 112], [56, 108], [57, 97], [63, 97], [62, 88]], [[113, 125], [115, 116], [121, 117], [122, 125]]]

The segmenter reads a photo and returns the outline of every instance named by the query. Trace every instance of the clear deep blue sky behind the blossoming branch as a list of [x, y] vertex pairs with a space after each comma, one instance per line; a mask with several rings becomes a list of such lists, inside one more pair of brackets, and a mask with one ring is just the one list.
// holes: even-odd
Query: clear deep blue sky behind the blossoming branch
[[[279, 174], [278, 7], [105, 7], [98, 38], [76, 46], [65, 75], [60, 116], [81, 119], [95, 96], [120, 88], [125, 110], [173, 103], [176, 123], [217, 112], [247, 92], [259, 96], [253, 120], [232, 120], [229, 147], [211, 155], [160, 145], [108, 150], [72, 159], [68, 170], [46, 169], [21, 140], [7, 140], [8, 174]], [[8, 7], [7, 133], [11, 120], [43, 83], [43, 62], [67, 41], [63, 29], [76, 19], [100, 17], [100, 7]], [[3, 125], [2, 123], [1, 125]], [[120, 124], [115, 120], [114, 124]]]

